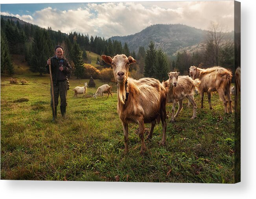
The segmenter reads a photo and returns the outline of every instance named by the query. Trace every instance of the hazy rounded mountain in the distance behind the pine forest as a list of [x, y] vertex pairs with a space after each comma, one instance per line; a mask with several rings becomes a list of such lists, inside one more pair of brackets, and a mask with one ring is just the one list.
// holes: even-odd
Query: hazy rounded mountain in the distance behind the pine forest
[[203, 42], [205, 30], [197, 29], [181, 24], [157, 24], [149, 26], [139, 33], [124, 37], [111, 37], [111, 40], [118, 40], [122, 44], [128, 44], [130, 51], [137, 53], [140, 46], [148, 48], [149, 42], [155, 42], [155, 47], [161, 47], [167, 55], [173, 55], [180, 49], [190, 46], [199, 47]]

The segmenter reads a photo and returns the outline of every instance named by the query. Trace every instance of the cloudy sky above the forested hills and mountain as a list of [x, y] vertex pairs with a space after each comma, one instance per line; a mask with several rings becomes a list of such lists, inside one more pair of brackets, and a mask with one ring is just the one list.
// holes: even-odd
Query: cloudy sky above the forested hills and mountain
[[[40, 27], [84, 35], [131, 35], [153, 24], [185, 24], [208, 29], [217, 22], [226, 31], [234, 29], [234, 1], [162, 1], [82, 3], [1, 3], [1, 15], [16, 16]], [[63, 2], [63, 0], [61, 1]], [[11, 3], [11, 4], [10, 4]]]

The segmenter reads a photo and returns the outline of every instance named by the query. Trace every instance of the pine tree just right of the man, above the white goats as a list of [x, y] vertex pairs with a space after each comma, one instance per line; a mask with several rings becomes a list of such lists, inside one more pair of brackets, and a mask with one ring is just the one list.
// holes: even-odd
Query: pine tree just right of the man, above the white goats
[[72, 60], [74, 62], [75, 67], [75, 75], [76, 78], [82, 78], [84, 74], [84, 64], [83, 64], [83, 57], [82, 57], [82, 51], [79, 47], [79, 44], [74, 43], [72, 48]]

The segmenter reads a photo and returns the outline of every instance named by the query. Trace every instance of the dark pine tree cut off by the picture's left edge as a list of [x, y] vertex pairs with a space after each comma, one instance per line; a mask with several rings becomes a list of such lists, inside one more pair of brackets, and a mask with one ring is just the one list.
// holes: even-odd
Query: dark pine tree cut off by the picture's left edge
[[11, 63], [11, 55], [9, 52], [8, 41], [4, 33], [1, 31], [1, 73], [3, 75], [13, 75], [13, 64]]

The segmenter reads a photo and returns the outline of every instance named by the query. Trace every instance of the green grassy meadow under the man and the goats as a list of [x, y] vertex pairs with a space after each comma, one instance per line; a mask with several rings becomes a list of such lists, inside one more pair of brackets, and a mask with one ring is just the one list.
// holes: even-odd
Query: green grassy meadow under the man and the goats
[[[50, 78], [15, 78], [26, 79], [28, 84], [9, 84], [9, 78], [1, 77], [1, 179], [234, 181], [234, 113], [224, 113], [217, 94], [212, 96], [213, 110], [206, 98], [204, 109], [200, 109], [200, 96], [195, 95], [199, 107], [195, 120], [190, 119], [192, 107], [188, 108], [184, 100], [176, 121], [167, 120], [166, 146], [159, 146], [162, 126], [156, 125], [152, 140], [145, 141], [147, 152], [143, 156], [136, 133], [138, 125], [130, 124], [129, 152], [125, 155], [114, 83], [95, 80], [97, 86], [112, 85], [113, 98], [94, 99], [96, 88], [88, 88], [86, 97], [73, 97], [72, 89], [83, 86], [88, 79], [70, 79], [66, 119], [61, 117], [58, 106], [57, 122], [53, 123]], [[171, 104], [167, 111], [171, 111]]]

